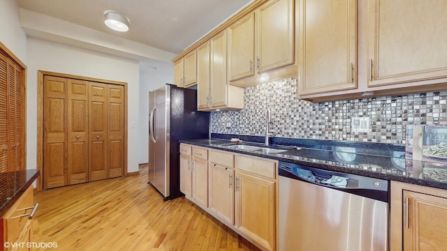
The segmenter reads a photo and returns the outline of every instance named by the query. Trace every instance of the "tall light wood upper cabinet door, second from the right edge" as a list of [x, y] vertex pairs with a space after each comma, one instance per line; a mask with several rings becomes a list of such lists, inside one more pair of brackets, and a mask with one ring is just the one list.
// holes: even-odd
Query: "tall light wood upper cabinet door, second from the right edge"
[[356, 2], [300, 0], [300, 94], [357, 88]]

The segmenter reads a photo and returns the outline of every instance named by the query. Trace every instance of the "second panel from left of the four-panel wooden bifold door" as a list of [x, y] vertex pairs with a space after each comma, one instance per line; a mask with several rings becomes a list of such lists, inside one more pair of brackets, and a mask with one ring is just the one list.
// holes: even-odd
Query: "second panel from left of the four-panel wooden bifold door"
[[67, 79], [68, 185], [89, 181], [88, 82]]

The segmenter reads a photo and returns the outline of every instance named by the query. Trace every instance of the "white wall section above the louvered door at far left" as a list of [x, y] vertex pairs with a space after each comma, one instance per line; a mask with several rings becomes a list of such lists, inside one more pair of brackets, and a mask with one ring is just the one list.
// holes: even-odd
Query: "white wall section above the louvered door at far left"
[[15, 0], [0, 1], [0, 42], [20, 61], [27, 63], [27, 36], [20, 26], [19, 5]]

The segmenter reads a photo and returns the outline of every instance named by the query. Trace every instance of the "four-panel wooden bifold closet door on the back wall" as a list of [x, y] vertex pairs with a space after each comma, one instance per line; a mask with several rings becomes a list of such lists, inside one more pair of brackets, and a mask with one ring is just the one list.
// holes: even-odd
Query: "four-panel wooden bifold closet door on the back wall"
[[43, 188], [123, 176], [124, 86], [43, 82]]

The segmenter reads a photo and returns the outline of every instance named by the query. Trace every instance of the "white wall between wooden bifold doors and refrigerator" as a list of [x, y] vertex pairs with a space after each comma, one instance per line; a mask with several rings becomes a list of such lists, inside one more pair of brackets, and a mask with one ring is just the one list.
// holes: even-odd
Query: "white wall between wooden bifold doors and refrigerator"
[[149, 66], [145, 63], [140, 65], [139, 163], [147, 163], [149, 160], [149, 91], [158, 89], [164, 84], [172, 84], [173, 82], [173, 63], [158, 61], [151, 63]]

